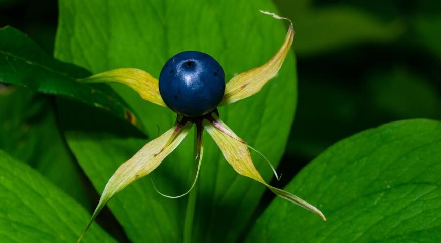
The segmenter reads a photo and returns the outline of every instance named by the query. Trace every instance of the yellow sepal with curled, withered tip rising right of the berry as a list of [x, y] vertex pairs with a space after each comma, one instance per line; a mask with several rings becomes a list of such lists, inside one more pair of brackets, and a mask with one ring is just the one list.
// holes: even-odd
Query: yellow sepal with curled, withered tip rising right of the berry
[[[276, 19], [285, 19], [272, 13], [265, 11], [261, 12], [270, 14]], [[285, 61], [285, 57], [289, 52], [289, 48], [291, 47], [294, 38], [292, 23], [290, 20], [288, 21], [289, 27], [285, 41], [277, 53], [264, 65], [233, 77], [225, 87], [224, 98], [220, 105], [230, 104], [259, 92], [269, 80], [277, 75], [280, 67], [282, 67], [283, 62]]]

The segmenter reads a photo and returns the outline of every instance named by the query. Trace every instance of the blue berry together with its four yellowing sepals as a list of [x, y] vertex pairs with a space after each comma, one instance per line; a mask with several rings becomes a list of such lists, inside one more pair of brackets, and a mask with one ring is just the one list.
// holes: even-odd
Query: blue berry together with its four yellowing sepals
[[[277, 19], [285, 19], [272, 13], [261, 12]], [[198, 178], [203, 157], [202, 129], [205, 129], [237, 173], [264, 184], [276, 195], [311, 210], [326, 220], [317, 208], [303, 199], [272, 187], [263, 180], [252, 163], [249, 146], [220, 120], [216, 109], [218, 105], [230, 104], [259, 92], [269, 80], [275, 77], [291, 47], [293, 35], [294, 31], [290, 22], [285, 41], [278, 52], [264, 65], [233, 77], [226, 86], [223, 83], [222, 67], [212, 57], [200, 52], [183, 52], [173, 56], [166, 62], [159, 81], [139, 69], [117, 69], [81, 79], [81, 82], [87, 83], [125, 84], [137, 91], [144, 100], [165, 107], [167, 104], [178, 115], [171, 129], [147, 143], [132, 158], [123, 163], [109, 179], [98, 206], [79, 241], [107, 201], [127, 185], [148, 175], [158, 167], [162, 160], [186, 137], [193, 124], [196, 124], [197, 131], [195, 147], [196, 158], [199, 159], [198, 169], [192, 187], [180, 196], [189, 193]], [[219, 92], [223, 93], [223, 96], [215, 97]], [[221, 97], [223, 98], [220, 99]], [[195, 102], [195, 99], [198, 102]], [[201, 102], [208, 103], [208, 106], [201, 105]], [[201, 106], [204, 108], [201, 109]]]

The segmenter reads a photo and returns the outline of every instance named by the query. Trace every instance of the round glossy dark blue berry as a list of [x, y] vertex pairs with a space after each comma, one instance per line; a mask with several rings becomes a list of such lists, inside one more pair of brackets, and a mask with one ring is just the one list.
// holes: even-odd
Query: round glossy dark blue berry
[[170, 58], [159, 75], [159, 93], [178, 114], [196, 117], [219, 105], [225, 92], [225, 74], [210, 55], [181, 52]]

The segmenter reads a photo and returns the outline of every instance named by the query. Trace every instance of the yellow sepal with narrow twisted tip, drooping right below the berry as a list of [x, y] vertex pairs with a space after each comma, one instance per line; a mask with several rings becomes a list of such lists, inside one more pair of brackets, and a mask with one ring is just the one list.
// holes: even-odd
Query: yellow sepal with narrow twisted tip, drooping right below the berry
[[212, 115], [215, 119], [216, 125], [213, 125], [210, 121], [204, 119], [204, 128], [213, 138], [214, 142], [216, 142], [217, 146], [219, 146], [220, 150], [224, 154], [225, 159], [228, 161], [228, 163], [230, 163], [237, 173], [259, 181], [267, 186], [276, 195], [290, 201], [291, 203], [297, 204], [302, 208], [310, 210], [319, 215], [323, 220], [326, 220], [323, 213], [321, 213], [316, 207], [307, 203], [307, 201], [298, 196], [292, 195], [287, 191], [268, 185], [255, 168], [246, 142], [231, 131], [231, 129], [228, 128], [227, 125], [222, 122], [222, 120], [216, 117], [215, 114]]

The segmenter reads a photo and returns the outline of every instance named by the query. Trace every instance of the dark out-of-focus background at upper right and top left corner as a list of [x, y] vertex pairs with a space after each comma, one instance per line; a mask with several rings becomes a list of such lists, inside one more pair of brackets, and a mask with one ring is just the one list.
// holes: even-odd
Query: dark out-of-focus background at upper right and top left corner
[[[354, 133], [400, 119], [441, 119], [441, 2], [274, 2], [296, 29], [299, 100], [277, 169], [283, 177], [271, 184], [283, 187], [320, 152]], [[57, 15], [56, 0], [0, 0], [0, 26], [20, 29], [48, 53]], [[2, 89], [0, 84], [0, 97]], [[88, 194], [98, 200], [93, 190]], [[256, 217], [273, 197], [265, 193]], [[100, 220], [126, 240], [111, 214]]]

